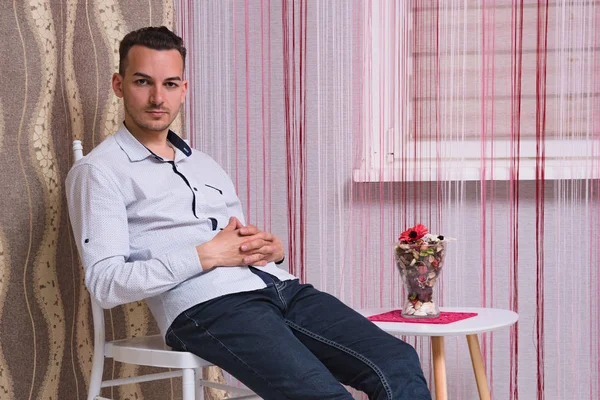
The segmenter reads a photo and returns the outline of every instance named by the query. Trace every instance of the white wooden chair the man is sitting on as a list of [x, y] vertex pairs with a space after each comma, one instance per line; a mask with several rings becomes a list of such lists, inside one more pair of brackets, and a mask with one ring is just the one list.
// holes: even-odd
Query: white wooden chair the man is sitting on
[[[73, 155], [75, 161], [83, 158], [83, 146], [79, 140], [73, 141]], [[223, 385], [202, 379], [202, 368], [213, 366], [213, 364], [192, 353], [170, 350], [161, 335], [141, 336], [107, 342], [104, 336], [104, 310], [94, 301], [94, 299], [91, 299], [91, 305], [94, 322], [94, 357], [92, 361], [92, 373], [90, 376], [87, 400], [110, 400], [100, 397], [100, 389], [104, 387], [148, 382], [179, 376], [182, 377], [183, 400], [202, 400], [204, 397], [204, 386], [223, 389], [230, 393], [240, 395], [235, 398], [230, 398], [230, 400], [261, 399], [248, 389]], [[112, 358], [115, 361], [126, 364], [146, 365], [175, 370], [103, 381], [102, 374], [105, 358]]]

